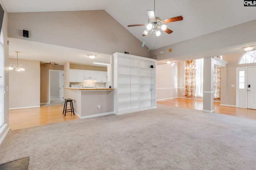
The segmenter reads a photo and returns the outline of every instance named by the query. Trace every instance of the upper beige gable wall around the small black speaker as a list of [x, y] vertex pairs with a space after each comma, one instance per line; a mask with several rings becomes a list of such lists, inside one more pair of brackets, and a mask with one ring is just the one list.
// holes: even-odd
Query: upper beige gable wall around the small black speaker
[[146, 46], [104, 10], [9, 13], [8, 36], [112, 55], [129, 52], [150, 57]]

